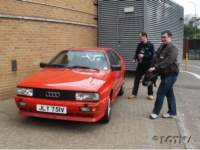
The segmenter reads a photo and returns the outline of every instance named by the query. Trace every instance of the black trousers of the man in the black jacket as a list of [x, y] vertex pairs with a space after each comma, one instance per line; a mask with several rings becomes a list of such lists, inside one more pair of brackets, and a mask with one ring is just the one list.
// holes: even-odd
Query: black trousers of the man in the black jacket
[[[135, 75], [135, 80], [134, 80], [134, 85], [133, 85], [133, 90], [132, 90], [133, 95], [137, 96], [140, 80], [148, 69], [149, 69], [148, 65], [138, 65], [136, 69], [136, 75]], [[150, 85], [147, 88], [148, 88], [148, 95], [153, 95], [153, 85]]]

